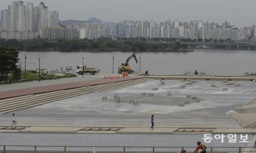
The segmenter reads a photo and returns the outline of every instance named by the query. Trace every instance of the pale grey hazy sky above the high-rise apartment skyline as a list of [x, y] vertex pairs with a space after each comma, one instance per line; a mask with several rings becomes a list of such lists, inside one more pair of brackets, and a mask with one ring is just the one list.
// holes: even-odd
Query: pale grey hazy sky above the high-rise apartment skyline
[[[38, 6], [44, 2], [50, 11], [58, 11], [60, 20], [203, 20], [222, 23], [228, 20], [238, 27], [255, 22], [256, 0], [24, 0]], [[0, 0], [0, 10], [12, 0]]]

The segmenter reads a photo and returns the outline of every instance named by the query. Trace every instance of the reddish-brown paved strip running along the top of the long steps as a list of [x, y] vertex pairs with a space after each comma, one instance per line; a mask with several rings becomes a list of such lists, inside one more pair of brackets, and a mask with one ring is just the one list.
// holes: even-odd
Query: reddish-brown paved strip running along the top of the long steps
[[95, 80], [80, 81], [80, 82], [73, 82], [73, 83], [47, 85], [42, 87], [30, 87], [26, 89], [2, 91], [0, 92], [0, 99], [7, 99], [7, 98], [18, 97], [22, 95], [40, 94], [40, 93], [47, 93], [47, 92], [58, 91], [58, 90], [74, 89], [74, 88], [86, 87], [90, 85], [100, 85], [105, 83], [121, 82], [121, 81], [141, 79], [141, 78], [142, 77], [120, 77], [118, 79], [95, 79]]

